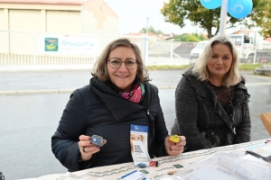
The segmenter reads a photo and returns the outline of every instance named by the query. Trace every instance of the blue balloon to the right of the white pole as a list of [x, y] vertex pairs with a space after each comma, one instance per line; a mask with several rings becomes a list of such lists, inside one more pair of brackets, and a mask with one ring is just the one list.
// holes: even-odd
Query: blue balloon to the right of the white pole
[[252, 11], [252, 0], [229, 0], [228, 12], [232, 17], [244, 18]]

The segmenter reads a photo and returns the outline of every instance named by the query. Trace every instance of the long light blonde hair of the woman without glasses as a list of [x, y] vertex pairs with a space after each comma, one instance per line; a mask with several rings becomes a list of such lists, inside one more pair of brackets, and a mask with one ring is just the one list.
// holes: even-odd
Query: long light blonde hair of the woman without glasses
[[192, 73], [193, 75], [198, 76], [201, 81], [208, 80], [210, 78], [207, 64], [212, 56], [211, 48], [217, 44], [223, 44], [225, 46], [228, 46], [232, 54], [231, 66], [229, 68], [229, 71], [225, 75], [223, 85], [226, 85], [228, 87], [230, 85], [237, 85], [241, 79], [238, 73], [239, 58], [234, 43], [229, 39], [227, 35], [216, 35], [209, 40], [201, 56], [196, 61], [194, 67], [192, 67]]

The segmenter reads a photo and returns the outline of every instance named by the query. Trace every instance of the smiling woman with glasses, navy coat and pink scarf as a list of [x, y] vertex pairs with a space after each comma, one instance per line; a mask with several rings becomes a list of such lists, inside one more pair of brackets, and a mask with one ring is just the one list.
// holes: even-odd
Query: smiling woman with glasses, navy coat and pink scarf
[[[147, 132], [149, 157], [182, 153], [185, 138], [168, 138], [158, 89], [140, 50], [127, 39], [110, 42], [99, 56], [89, 85], [70, 95], [51, 149], [69, 171], [132, 162], [131, 127]], [[97, 135], [99, 139], [93, 138]], [[99, 140], [102, 146], [97, 146]]]

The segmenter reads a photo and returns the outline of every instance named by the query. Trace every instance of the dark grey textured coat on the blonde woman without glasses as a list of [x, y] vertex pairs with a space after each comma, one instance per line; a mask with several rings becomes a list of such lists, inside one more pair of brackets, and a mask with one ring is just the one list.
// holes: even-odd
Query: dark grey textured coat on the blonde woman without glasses
[[226, 112], [206, 81], [191, 70], [182, 75], [175, 91], [177, 118], [171, 133], [186, 137], [185, 151], [250, 141], [250, 95], [243, 77], [235, 86]]

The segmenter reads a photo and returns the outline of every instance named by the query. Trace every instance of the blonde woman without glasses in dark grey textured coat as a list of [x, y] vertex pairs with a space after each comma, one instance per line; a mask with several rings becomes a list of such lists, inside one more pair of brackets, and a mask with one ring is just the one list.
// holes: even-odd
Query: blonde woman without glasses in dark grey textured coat
[[235, 45], [217, 35], [177, 85], [172, 133], [187, 138], [185, 152], [248, 142], [249, 97]]

